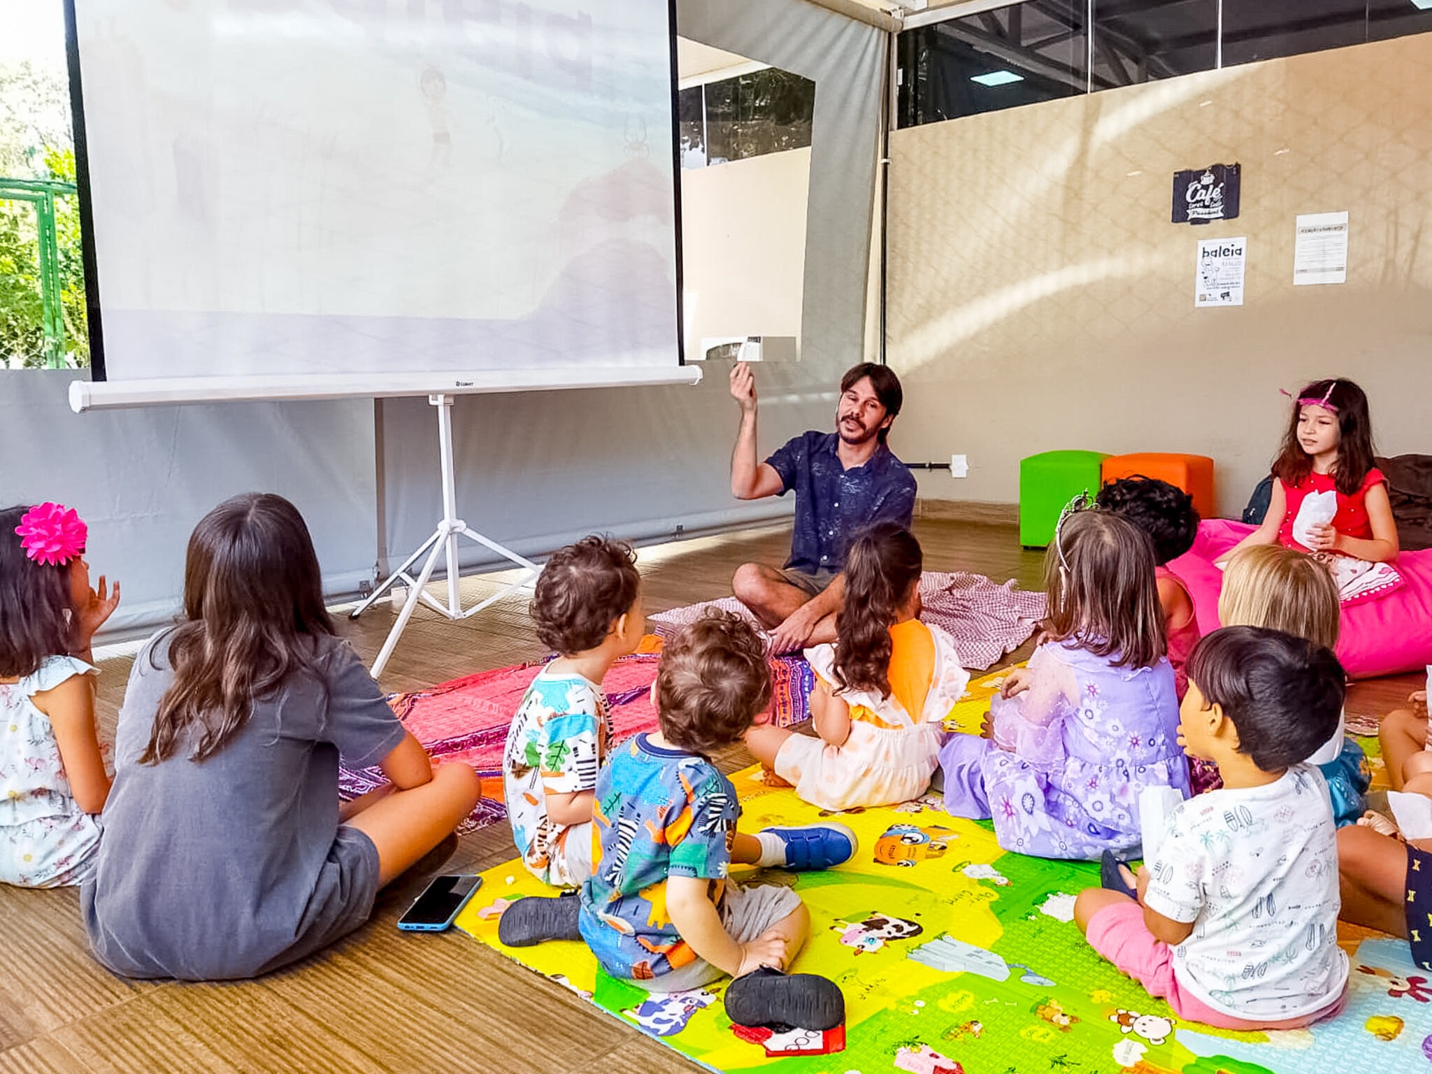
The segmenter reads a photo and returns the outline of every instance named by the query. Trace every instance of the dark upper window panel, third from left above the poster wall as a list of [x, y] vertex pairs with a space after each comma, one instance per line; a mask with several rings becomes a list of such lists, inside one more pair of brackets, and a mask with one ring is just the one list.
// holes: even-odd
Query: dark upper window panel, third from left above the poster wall
[[[1408, 7], [1412, 7], [1408, 0]], [[1224, 0], [1223, 66], [1368, 40], [1368, 0]]]

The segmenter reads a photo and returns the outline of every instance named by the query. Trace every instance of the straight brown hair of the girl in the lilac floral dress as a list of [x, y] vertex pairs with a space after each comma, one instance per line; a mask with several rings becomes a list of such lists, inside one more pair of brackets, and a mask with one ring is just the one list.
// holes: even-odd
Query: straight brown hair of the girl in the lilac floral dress
[[1060, 520], [1044, 553], [1047, 642], [1071, 642], [1116, 667], [1151, 667], [1167, 649], [1154, 550], [1127, 518], [1100, 508]]

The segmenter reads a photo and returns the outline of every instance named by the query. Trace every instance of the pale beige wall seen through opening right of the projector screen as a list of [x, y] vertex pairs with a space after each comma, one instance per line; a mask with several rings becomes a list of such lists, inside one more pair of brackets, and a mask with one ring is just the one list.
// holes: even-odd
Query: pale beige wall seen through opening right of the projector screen
[[686, 359], [703, 337], [800, 337], [811, 150], [682, 172]]

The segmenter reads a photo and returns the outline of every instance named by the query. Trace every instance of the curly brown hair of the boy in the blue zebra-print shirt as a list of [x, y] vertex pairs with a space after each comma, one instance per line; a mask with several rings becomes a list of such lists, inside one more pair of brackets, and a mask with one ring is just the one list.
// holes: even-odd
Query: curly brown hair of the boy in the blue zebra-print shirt
[[710, 611], [666, 643], [656, 669], [662, 736], [703, 756], [730, 746], [770, 705], [766, 643], [730, 611]]

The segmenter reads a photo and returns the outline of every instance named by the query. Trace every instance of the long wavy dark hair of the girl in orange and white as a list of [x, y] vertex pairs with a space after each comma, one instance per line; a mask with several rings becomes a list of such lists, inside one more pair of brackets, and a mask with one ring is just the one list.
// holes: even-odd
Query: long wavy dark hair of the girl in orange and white
[[839, 686], [889, 697], [891, 626], [919, 584], [924, 564], [915, 536], [891, 523], [872, 527], [851, 546], [845, 560], [845, 603], [835, 617]]

